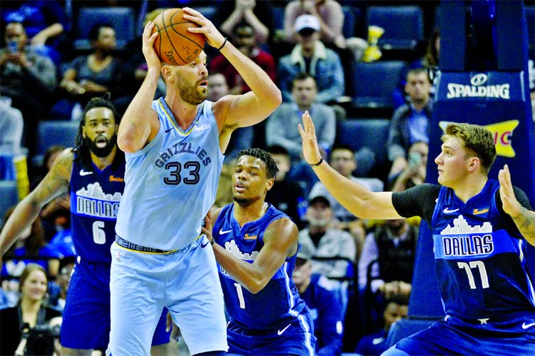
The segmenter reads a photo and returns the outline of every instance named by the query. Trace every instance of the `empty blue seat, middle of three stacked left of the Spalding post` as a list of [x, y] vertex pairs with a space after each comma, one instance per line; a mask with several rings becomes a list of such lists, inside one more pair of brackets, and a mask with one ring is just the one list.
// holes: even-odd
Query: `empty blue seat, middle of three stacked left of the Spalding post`
[[355, 63], [351, 81], [353, 106], [392, 108], [392, 93], [404, 66], [403, 61]]

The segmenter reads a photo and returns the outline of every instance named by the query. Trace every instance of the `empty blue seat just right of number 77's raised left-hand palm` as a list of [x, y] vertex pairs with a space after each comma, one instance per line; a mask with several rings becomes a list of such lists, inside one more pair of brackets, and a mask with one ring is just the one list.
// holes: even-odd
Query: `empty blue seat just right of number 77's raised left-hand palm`
[[347, 145], [357, 152], [368, 147], [375, 153], [377, 164], [387, 162], [387, 138], [390, 121], [386, 118], [350, 118], [337, 125], [336, 144]]

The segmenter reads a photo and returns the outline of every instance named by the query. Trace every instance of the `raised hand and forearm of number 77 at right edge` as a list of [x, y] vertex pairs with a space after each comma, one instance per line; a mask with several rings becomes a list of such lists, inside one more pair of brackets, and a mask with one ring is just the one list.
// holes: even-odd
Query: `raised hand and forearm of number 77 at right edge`
[[509, 166], [505, 165], [498, 173], [500, 198], [504, 211], [508, 213], [528, 243], [535, 246], [535, 212], [520, 205], [514, 195]]

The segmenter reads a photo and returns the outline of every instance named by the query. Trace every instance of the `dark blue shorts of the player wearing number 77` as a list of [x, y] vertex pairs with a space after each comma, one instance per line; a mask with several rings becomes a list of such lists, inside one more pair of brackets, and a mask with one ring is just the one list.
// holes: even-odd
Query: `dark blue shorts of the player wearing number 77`
[[[486, 324], [447, 317], [394, 347], [409, 355], [535, 355], [535, 317], [522, 315]], [[394, 347], [383, 355], [399, 355]]]

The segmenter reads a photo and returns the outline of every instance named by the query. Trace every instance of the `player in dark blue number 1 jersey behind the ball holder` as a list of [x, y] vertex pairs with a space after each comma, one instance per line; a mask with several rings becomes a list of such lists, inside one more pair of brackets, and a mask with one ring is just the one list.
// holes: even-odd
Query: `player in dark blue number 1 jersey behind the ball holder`
[[234, 203], [213, 209], [202, 228], [218, 261], [231, 354], [315, 355], [312, 317], [292, 281], [297, 225], [265, 202], [277, 171], [269, 153], [241, 151]]

